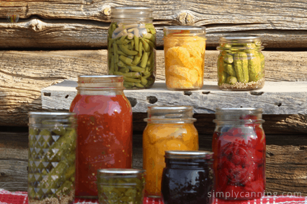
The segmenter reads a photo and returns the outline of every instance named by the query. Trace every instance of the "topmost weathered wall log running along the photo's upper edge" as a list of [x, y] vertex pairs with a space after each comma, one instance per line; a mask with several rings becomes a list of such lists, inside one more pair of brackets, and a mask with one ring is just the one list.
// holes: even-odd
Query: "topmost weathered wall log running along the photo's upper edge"
[[20, 18], [37, 15], [42, 18], [73, 18], [109, 22], [109, 8], [114, 6], [147, 6], [153, 18], [175, 24], [245, 24], [258, 29], [307, 30], [304, 1], [69, 1], [21, 0], [2, 2], [0, 18], [15, 12]]

